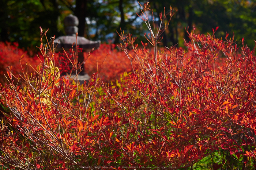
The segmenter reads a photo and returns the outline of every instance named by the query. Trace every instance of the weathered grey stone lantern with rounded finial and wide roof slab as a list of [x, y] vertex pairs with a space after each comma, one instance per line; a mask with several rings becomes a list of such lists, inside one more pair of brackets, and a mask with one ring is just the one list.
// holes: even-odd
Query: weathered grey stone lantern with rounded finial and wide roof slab
[[[54, 39], [54, 46], [56, 47], [57, 43], [58, 46], [56, 48], [56, 52], [63, 51], [63, 48], [65, 51], [69, 51], [69, 49], [72, 48], [73, 43], [75, 43], [74, 47], [76, 46], [76, 33], [78, 32], [78, 24], [79, 20], [76, 16], [70, 14], [64, 19], [64, 26], [65, 26], [65, 32], [67, 35], [60, 36], [56, 39]], [[91, 41], [88, 40], [82, 36], [77, 37], [77, 45], [79, 48], [82, 48], [83, 52], [91, 51], [93, 48], [98, 49], [101, 44], [101, 41]], [[83, 52], [78, 53], [78, 62], [82, 63], [84, 60]], [[85, 74], [84, 67], [82, 65], [82, 72], [81, 74]]]

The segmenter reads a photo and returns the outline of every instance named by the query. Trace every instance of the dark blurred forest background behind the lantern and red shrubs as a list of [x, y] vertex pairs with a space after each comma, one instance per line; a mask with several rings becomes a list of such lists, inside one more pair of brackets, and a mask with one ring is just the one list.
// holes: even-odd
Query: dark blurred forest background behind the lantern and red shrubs
[[[146, 3], [140, 1], [141, 4]], [[184, 47], [189, 40], [185, 27], [191, 32], [206, 34], [219, 27], [217, 38], [226, 32], [235, 34], [237, 44], [241, 39], [249, 47], [254, 46], [256, 36], [255, 0], [151, 0], [155, 16], [169, 5], [177, 9], [169, 28], [162, 34], [162, 46], [178, 44]], [[18, 42], [19, 47], [29, 50], [30, 55], [38, 49], [39, 26], [48, 31], [48, 36], [64, 35], [64, 18], [70, 13], [79, 19], [79, 36], [90, 40], [118, 43], [116, 30], [125, 30], [144, 39], [146, 25], [136, 13], [140, 13], [138, 1], [133, 0], [1, 0], [0, 41]], [[155, 18], [156, 22], [160, 22]], [[32, 51], [32, 53], [31, 53]]]

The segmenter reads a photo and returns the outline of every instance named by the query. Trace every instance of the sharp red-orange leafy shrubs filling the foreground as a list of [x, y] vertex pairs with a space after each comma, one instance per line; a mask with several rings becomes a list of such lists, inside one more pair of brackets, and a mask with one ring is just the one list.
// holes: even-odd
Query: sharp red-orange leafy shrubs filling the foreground
[[[192, 169], [211, 155], [214, 170], [255, 168], [255, 49], [192, 31], [188, 51], [158, 52], [158, 32], [147, 37], [153, 54], [120, 34], [132, 70], [116, 84], [60, 77], [44, 55], [23, 88], [1, 86], [11, 110], [0, 126], [3, 167]], [[229, 157], [214, 162], [218, 150]]]

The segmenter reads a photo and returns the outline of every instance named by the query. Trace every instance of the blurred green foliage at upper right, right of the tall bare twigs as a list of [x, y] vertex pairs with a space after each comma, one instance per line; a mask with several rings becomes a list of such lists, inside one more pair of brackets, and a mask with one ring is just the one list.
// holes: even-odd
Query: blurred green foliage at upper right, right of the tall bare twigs
[[176, 15], [170, 22], [169, 31], [163, 34], [163, 45], [183, 46], [183, 38], [189, 40], [184, 27], [197, 28], [197, 33], [207, 34], [212, 28], [219, 27], [216, 37], [224, 38], [226, 32], [236, 35], [237, 44], [241, 45], [241, 39], [246, 39], [246, 44], [253, 48], [256, 34], [255, 10], [256, 2], [241, 0], [153, 0], [150, 1], [157, 13], [160, 13], [169, 5], [177, 9]]

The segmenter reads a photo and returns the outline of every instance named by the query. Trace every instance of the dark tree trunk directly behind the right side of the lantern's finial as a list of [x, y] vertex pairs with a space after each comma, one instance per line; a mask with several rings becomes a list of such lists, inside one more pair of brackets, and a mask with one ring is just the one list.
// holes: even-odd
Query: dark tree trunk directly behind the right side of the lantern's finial
[[87, 16], [87, 0], [76, 0], [75, 15], [78, 17], [78, 36], [84, 36], [85, 17]]

